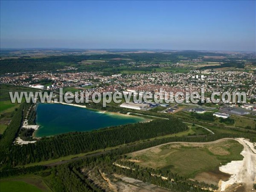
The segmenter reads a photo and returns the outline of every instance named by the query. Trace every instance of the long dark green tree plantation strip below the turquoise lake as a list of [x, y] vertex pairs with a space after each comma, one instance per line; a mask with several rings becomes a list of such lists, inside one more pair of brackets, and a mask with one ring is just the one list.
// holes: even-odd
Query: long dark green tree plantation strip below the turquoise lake
[[[12, 145], [11, 150], [6, 151], [6, 154], [1, 156], [1, 161], [11, 162], [12, 165], [38, 162], [174, 134], [187, 129], [187, 126], [180, 120], [171, 118], [148, 123], [122, 125], [99, 131], [61, 134], [42, 138], [35, 144]], [[9, 130], [6, 132], [8, 133]], [[3, 139], [4, 137], [5, 135]], [[6, 145], [8, 144], [10, 145], [10, 143], [6, 143]]]

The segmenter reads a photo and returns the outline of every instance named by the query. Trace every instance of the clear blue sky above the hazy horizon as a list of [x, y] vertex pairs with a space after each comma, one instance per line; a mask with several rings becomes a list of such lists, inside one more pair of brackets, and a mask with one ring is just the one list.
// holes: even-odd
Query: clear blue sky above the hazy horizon
[[3, 1], [1, 48], [256, 51], [256, 1]]

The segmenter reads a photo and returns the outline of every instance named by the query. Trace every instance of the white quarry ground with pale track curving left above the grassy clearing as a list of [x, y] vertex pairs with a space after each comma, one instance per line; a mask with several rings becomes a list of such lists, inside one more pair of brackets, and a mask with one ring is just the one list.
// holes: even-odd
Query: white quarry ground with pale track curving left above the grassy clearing
[[[244, 157], [243, 160], [234, 160], [230, 163], [227, 163], [224, 166], [220, 166], [219, 170], [223, 173], [231, 175], [227, 177], [227, 180], [219, 180], [219, 192], [252, 192], [253, 183], [256, 183], [256, 143], [252, 143], [244, 138], [223, 138], [220, 140], [206, 142], [206, 143], [186, 143], [186, 142], [171, 142], [158, 145], [155, 147], [143, 149], [140, 151], [134, 152], [134, 154], [140, 154], [148, 150], [160, 150], [159, 147], [168, 144], [189, 144], [189, 145], [207, 145], [219, 143], [225, 140], [236, 140], [241, 145], [243, 145], [243, 150], [241, 155]], [[212, 151], [214, 153], [214, 151]]]

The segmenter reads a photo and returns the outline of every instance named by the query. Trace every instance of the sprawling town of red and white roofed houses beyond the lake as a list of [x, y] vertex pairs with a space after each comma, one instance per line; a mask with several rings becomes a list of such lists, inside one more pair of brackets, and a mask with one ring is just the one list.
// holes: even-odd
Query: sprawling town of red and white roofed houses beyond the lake
[[[70, 69], [73, 70], [73, 69]], [[256, 112], [256, 75], [243, 71], [214, 71], [214, 70], [191, 70], [188, 73], [152, 72], [138, 74], [114, 74], [103, 76], [100, 72], [77, 72], [57, 73], [34, 72], [22, 74], [6, 74], [0, 78], [1, 83], [17, 86], [33, 87], [41, 90], [64, 90], [73, 89], [73, 92], [151, 92], [154, 94], [160, 88], [166, 92], [183, 92], [187, 87], [189, 93], [205, 91], [205, 99], [210, 99], [210, 93], [226, 91], [232, 93], [245, 91], [248, 103], [228, 103], [221, 101], [218, 105], [229, 110], [233, 114], [246, 114]], [[65, 89], [66, 88], [66, 89]], [[184, 97], [184, 96], [182, 96]], [[133, 105], [133, 104], [130, 104]], [[121, 107], [124, 105], [121, 105]], [[210, 106], [210, 105], [208, 105]], [[128, 107], [128, 106], [126, 106]], [[239, 109], [240, 108], [240, 109]], [[140, 108], [139, 108], [140, 109]], [[150, 108], [149, 108], [150, 109]], [[243, 112], [247, 111], [247, 112]], [[226, 110], [228, 112], [228, 110]]]

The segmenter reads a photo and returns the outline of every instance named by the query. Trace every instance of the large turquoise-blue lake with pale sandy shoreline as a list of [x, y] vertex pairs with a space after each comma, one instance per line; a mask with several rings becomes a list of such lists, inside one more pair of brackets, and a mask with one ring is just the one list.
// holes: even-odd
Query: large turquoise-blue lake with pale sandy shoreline
[[38, 104], [35, 137], [47, 137], [74, 131], [92, 131], [116, 125], [145, 121], [142, 117], [103, 113], [70, 105]]

